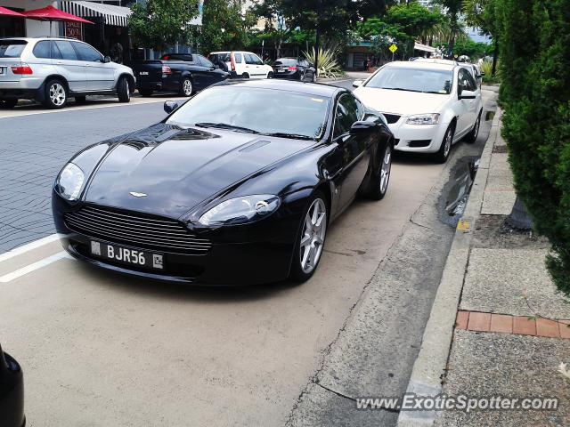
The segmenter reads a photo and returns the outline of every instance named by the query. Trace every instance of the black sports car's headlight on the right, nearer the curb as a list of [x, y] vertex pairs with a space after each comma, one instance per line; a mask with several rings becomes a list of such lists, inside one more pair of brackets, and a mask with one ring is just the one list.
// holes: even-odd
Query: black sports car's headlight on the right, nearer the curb
[[225, 200], [199, 218], [202, 225], [234, 225], [259, 221], [272, 214], [281, 205], [273, 194], [256, 194]]

